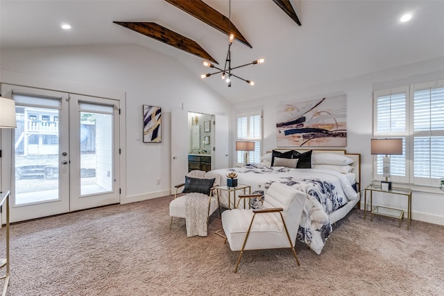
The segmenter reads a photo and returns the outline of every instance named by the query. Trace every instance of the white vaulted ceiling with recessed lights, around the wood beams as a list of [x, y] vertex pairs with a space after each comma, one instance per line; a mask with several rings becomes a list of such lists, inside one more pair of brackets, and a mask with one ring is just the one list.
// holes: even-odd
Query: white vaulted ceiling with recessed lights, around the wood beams
[[[207, 0], [228, 16], [228, 0]], [[237, 70], [251, 87], [218, 76], [207, 84], [239, 102], [320, 85], [444, 55], [444, 1], [291, 1], [298, 26], [271, 0], [232, 0], [231, 19], [253, 49], [234, 42], [232, 66], [265, 58]], [[410, 12], [411, 21], [400, 17]], [[139, 44], [176, 59], [199, 77], [200, 58], [113, 24], [153, 21], [195, 40], [223, 65], [228, 37], [166, 1], [0, 1], [1, 49], [81, 44]], [[71, 24], [70, 31], [60, 28]]]

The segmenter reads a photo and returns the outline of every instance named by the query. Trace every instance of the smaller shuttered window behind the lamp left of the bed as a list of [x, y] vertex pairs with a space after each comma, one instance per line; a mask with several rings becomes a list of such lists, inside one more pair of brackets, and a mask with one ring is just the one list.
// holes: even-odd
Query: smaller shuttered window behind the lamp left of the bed
[[[261, 162], [262, 143], [262, 112], [245, 112], [237, 114], [237, 140], [253, 141], [255, 150], [248, 152], [248, 164], [259, 164]], [[237, 164], [244, 164], [244, 151], [237, 151]]]

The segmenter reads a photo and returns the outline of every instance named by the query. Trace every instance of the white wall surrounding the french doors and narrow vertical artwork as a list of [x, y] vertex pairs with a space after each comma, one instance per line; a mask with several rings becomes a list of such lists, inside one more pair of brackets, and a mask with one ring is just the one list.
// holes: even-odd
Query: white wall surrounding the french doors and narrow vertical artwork
[[[96, 96], [126, 95], [126, 147], [121, 147], [126, 157], [126, 167], [121, 168], [126, 170], [126, 188], [121, 202], [170, 193], [172, 109], [186, 106], [185, 110], [209, 114], [214, 110], [225, 115], [230, 112], [228, 102], [203, 85], [200, 78], [172, 58], [142, 46], [7, 49], [1, 51], [0, 64], [0, 82], [60, 87], [58, 90]], [[15, 72], [26, 74], [26, 79], [23, 75], [4, 75]], [[136, 141], [137, 134], [142, 134], [142, 105], [162, 107], [162, 143]], [[194, 106], [198, 110], [193, 110]]]

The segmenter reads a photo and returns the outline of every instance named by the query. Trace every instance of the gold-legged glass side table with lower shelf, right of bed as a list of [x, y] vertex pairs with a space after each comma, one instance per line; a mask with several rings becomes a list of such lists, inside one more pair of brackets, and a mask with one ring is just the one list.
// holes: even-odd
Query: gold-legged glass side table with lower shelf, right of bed
[[401, 209], [393, 209], [391, 207], [377, 206], [373, 209], [373, 191], [389, 194], [404, 195], [407, 197], [407, 230], [410, 227], [411, 221], [411, 189], [393, 188], [391, 190], [382, 190], [381, 186], [370, 184], [364, 189], [364, 220], [367, 214], [367, 191], [370, 191], [370, 221], [373, 221], [373, 215], [386, 216], [399, 219], [398, 227], [401, 227], [402, 220], [404, 220], [404, 211]]

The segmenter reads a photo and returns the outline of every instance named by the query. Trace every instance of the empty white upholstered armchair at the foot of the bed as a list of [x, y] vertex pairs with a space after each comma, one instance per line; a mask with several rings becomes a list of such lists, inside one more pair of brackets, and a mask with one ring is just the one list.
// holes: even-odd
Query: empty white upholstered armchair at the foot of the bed
[[222, 213], [222, 226], [232, 251], [240, 251], [237, 272], [244, 250], [290, 247], [294, 250], [296, 235], [306, 194], [274, 182], [266, 191], [263, 209], [232, 209]]

